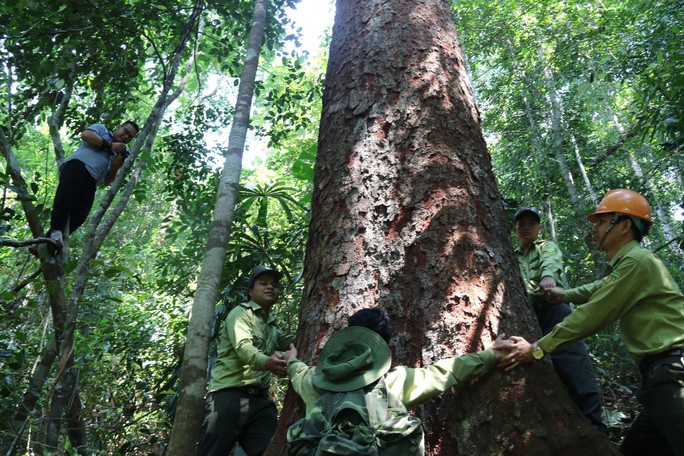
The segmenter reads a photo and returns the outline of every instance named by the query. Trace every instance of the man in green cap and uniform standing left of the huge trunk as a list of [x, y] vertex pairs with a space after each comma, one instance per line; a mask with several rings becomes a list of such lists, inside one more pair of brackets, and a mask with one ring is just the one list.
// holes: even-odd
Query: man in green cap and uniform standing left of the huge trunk
[[250, 301], [223, 322], [216, 365], [211, 371], [198, 454], [225, 456], [236, 443], [249, 456], [261, 455], [278, 425], [269, 396], [271, 374], [285, 377], [285, 359], [294, 336], [270, 315], [280, 296], [281, 273], [259, 265], [249, 277]]

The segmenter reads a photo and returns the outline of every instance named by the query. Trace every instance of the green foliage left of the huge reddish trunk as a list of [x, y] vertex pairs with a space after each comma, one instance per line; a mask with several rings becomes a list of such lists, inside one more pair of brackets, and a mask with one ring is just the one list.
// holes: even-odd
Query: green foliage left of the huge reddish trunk
[[[266, 40], [272, 51], [265, 53], [266, 66], [278, 55], [284, 40], [297, 40], [296, 34], [285, 36], [289, 19], [284, 8], [292, 4], [289, 0], [277, 2], [271, 11]], [[67, 155], [78, 144], [78, 133], [90, 123], [102, 122], [113, 128], [125, 118], [144, 119], [193, 5], [164, 0], [105, 2], [98, 4], [101, 14], [97, 15], [92, 14], [91, 3], [78, 1], [47, 6], [20, 1], [0, 6], [0, 85], [6, 94], [3, 105], [10, 108], [0, 110], [0, 128], [18, 157], [27, 184], [26, 190], [15, 185], [8, 171], [0, 170], [3, 237], [31, 236], [22, 201], [30, 200], [41, 222], [47, 224], [57, 173], [46, 121], [58, 103], [73, 89], [65, 124], [56, 132]], [[89, 450], [94, 454], [157, 452], [168, 432], [167, 413], [174, 405], [189, 303], [222, 165], [221, 144], [207, 138], [212, 132], [214, 136], [225, 134], [232, 121], [234, 93], [223, 91], [221, 85], [241, 70], [253, 3], [209, 2], [205, 7], [202, 33], [191, 37], [183, 57], [184, 62], [192, 62], [180, 74], [186, 92], [159, 131], [146, 157], [148, 167], [124, 215], [89, 265], [91, 283], [81, 301], [75, 353]], [[305, 63], [294, 55], [289, 59], [297, 65]], [[280, 74], [291, 71], [273, 68]], [[287, 84], [290, 93], [295, 91], [290, 102], [306, 91], [313, 93], [309, 101], [317, 102], [317, 79], [307, 79], [306, 84], [290, 79], [282, 84], [278, 78], [267, 76], [263, 90], [275, 94]], [[205, 88], [215, 80], [219, 81], [217, 92], [207, 94]], [[288, 99], [279, 101], [277, 108], [269, 105], [271, 101], [258, 107], [263, 114], [254, 121], [256, 131], [268, 132], [270, 125], [263, 119], [282, 116], [288, 109], [284, 104]], [[301, 108], [308, 117], [296, 123], [300, 129], [310, 128], [316, 111], [309, 105]], [[295, 119], [289, 117], [288, 121]], [[284, 131], [290, 126], [280, 128]], [[281, 142], [291, 141], [282, 131]], [[306, 199], [302, 196], [305, 192], [293, 188], [298, 181], [289, 176], [280, 179], [281, 169], [267, 176], [257, 174], [246, 173], [252, 182], [246, 180], [240, 192], [221, 302], [232, 305], [244, 300], [245, 273], [253, 264], [267, 262], [286, 271], [278, 312], [294, 330], [308, 226], [308, 209], [300, 201]], [[98, 192], [98, 200], [102, 193]], [[83, 235], [81, 229], [70, 239], [67, 293]], [[21, 402], [32, 363], [52, 333], [45, 286], [40, 278], [30, 279], [36, 265], [25, 249], [0, 249], [3, 429], [8, 429], [6, 420]], [[52, 376], [54, 372], [49, 378]], [[43, 438], [40, 411], [47, 410], [50, 398], [50, 391], [42, 391], [38, 412], [27, 423], [38, 452]], [[0, 436], [3, 442], [11, 438], [4, 433]], [[71, 451], [68, 441], [62, 445], [66, 453]]]

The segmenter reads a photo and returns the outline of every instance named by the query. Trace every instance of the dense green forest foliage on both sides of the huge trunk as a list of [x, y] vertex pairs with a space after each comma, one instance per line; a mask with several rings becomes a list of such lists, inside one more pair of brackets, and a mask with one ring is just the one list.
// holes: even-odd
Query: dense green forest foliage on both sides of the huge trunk
[[[217, 328], [246, 298], [248, 271], [263, 262], [286, 273], [276, 313], [296, 329], [327, 43], [311, 53], [298, 49], [288, 4], [274, 2], [270, 10], [248, 145], [268, 153], [243, 171]], [[170, 0], [0, 6], [0, 128], [26, 181], [17, 186], [9, 167], [0, 167], [0, 237], [31, 237], [21, 200], [33, 201], [47, 223], [57, 164], [85, 126], [114, 128], [149, 115], [193, 6]], [[202, 23], [182, 52], [183, 92], [144, 152], [147, 168], [124, 215], [90, 263], [75, 352], [95, 453], [161, 453], [171, 423], [252, 2], [202, 7]], [[467, 0], [453, 11], [500, 191], [511, 214], [522, 204], [548, 214], [545, 235], [565, 253], [569, 284], [593, 280], [603, 268], [586, 241], [583, 216], [614, 187], [635, 189], [652, 202], [656, 225], [647, 244], [684, 283], [681, 5]], [[50, 119], [67, 95], [56, 140]], [[72, 238], [68, 271], [76, 267], [83, 234]], [[37, 267], [25, 248], [0, 247], [0, 429], [51, 334]], [[621, 420], [635, 410], [637, 377], [614, 329], [590, 344], [617, 440]], [[48, 384], [19, 448], [41, 451], [51, 394]], [[13, 436], [3, 432], [0, 439], [6, 445]]]

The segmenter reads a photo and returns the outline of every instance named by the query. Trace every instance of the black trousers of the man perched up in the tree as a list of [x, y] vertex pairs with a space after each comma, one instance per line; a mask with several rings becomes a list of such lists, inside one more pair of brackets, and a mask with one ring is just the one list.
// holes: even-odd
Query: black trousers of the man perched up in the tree
[[80, 160], [64, 163], [59, 174], [59, 185], [52, 203], [50, 230], [73, 233], [83, 225], [95, 201], [97, 181]]

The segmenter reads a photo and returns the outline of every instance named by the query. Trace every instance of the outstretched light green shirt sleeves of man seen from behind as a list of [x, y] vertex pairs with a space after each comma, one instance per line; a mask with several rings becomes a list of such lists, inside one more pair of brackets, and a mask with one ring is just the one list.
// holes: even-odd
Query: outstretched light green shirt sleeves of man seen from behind
[[[394, 367], [385, 374], [385, 384], [387, 390], [410, 410], [454, 385], [461, 385], [489, 372], [495, 364], [494, 351], [485, 350], [444, 359], [422, 368]], [[324, 393], [312, 383], [314, 369], [294, 357], [287, 363], [287, 375], [292, 387], [306, 404], [307, 413]]]

